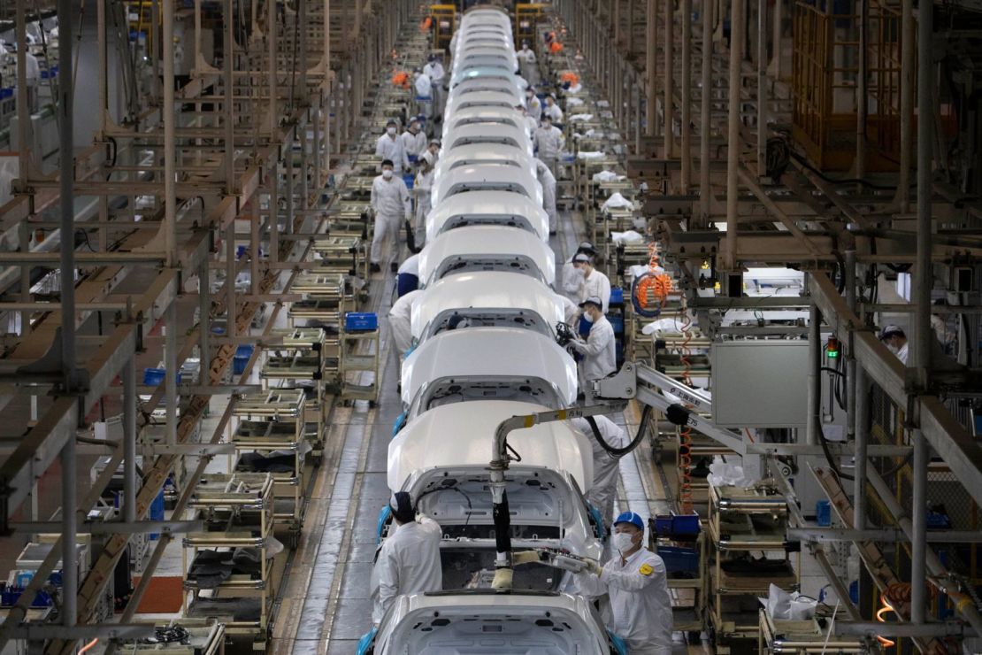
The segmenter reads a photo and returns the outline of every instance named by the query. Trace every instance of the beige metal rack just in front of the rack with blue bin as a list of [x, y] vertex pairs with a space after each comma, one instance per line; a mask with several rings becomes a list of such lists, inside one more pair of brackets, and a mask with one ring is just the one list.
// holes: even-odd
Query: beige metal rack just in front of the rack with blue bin
[[270, 389], [274, 380], [287, 389], [306, 394], [303, 416], [304, 438], [312, 447], [310, 454], [322, 457], [324, 425], [327, 422], [327, 394], [324, 382], [325, 336], [321, 328], [288, 328], [273, 330], [272, 342], [260, 344], [265, 355], [259, 379]]

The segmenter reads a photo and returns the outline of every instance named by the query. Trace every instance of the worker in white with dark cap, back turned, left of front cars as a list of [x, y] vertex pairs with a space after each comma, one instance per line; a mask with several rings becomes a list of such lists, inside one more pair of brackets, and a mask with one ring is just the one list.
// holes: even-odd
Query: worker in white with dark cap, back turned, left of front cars
[[389, 501], [395, 533], [390, 533], [375, 558], [372, 623], [378, 626], [397, 596], [443, 589], [440, 564], [440, 524], [416, 517], [412, 499], [405, 491]]

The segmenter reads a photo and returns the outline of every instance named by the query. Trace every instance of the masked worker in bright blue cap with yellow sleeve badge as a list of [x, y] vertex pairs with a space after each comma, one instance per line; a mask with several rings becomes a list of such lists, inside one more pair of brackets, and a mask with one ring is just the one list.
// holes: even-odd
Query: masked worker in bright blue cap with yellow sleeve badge
[[625, 512], [614, 521], [611, 537], [617, 554], [603, 566], [590, 561], [576, 574], [588, 598], [608, 594], [611, 630], [627, 641], [630, 655], [672, 654], [672, 599], [662, 558], [641, 544], [644, 520]]

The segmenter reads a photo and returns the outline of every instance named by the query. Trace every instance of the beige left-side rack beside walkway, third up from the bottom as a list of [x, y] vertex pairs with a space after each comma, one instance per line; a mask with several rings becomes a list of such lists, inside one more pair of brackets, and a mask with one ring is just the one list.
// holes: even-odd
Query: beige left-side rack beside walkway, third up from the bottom
[[[293, 454], [293, 470], [271, 473], [276, 522], [288, 526], [291, 547], [299, 542], [303, 519], [303, 460], [308, 451], [304, 441], [305, 405], [303, 390], [274, 389], [243, 396], [233, 409], [239, 425], [232, 443], [240, 458], [249, 452]], [[242, 465], [240, 459], [237, 469]]]

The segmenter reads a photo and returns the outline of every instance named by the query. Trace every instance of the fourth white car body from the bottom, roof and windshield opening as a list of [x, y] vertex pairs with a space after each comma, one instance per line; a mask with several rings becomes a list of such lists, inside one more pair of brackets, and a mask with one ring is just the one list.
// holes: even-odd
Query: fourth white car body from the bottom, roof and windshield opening
[[475, 271], [434, 282], [412, 303], [410, 332], [417, 343], [448, 328], [456, 314], [469, 326], [512, 325], [555, 336], [563, 300], [543, 283], [520, 273]]

